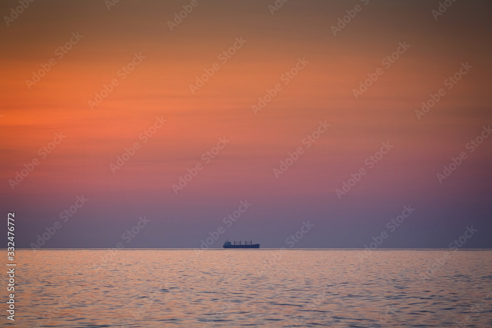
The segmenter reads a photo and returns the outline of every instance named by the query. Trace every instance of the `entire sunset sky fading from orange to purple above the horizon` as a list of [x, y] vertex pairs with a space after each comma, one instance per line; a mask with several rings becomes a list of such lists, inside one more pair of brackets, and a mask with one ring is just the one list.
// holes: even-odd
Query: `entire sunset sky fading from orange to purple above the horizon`
[[281, 3], [2, 1], [17, 247], [492, 248], [492, 4]]

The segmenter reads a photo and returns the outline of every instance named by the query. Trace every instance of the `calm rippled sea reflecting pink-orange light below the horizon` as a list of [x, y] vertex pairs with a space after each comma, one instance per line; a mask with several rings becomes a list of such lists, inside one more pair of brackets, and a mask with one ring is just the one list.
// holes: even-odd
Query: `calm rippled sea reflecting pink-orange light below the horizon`
[[[492, 251], [22, 249], [1, 327], [492, 327]], [[5, 268], [5, 266], [4, 266]]]

